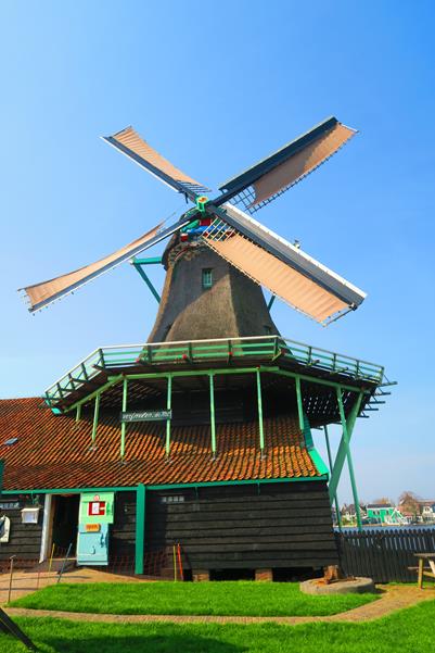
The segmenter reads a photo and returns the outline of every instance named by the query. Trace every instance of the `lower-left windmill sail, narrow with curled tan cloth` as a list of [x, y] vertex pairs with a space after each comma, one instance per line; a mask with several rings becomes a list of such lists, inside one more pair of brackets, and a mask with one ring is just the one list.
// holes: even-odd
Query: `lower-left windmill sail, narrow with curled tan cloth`
[[21, 288], [20, 290], [24, 290], [27, 296], [29, 303], [28, 310], [30, 313], [33, 313], [35, 311], [39, 311], [39, 309], [43, 309], [43, 306], [51, 304], [53, 301], [60, 299], [64, 294], [73, 292], [73, 290], [76, 290], [95, 277], [108, 272], [113, 267], [116, 267], [124, 261], [127, 261], [128, 259], [131, 259], [131, 256], [139, 254], [139, 252], [149, 249], [153, 244], [156, 244], [188, 223], [189, 221], [178, 222], [163, 230], [161, 230], [163, 223], [159, 223], [140, 238], [137, 238], [129, 244], [126, 244], [119, 250], [116, 250], [116, 252], [113, 252], [113, 254], [108, 254], [95, 263], [91, 263], [90, 265], [86, 265], [85, 267], [80, 267], [74, 272], [61, 275], [54, 279], [49, 279], [48, 281]]

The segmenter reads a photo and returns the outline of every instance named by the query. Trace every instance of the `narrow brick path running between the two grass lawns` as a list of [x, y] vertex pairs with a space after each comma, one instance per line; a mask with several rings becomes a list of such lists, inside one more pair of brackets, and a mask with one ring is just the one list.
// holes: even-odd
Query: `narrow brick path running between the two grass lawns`
[[380, 586], [381, 599], [355, 610], [329, 617], [240, 617], [206, 615], [106, 615], [63, 612], [50, 610], [27, 610], [8, 607], [11, 616], [26, 617], [61, 617], [74, 621], [104, 621], [112, 624], [146, 624], [152, 621], [169, 621], [172, 624], [286, 624], [297, 625], [312, 621], [369, 621], [391, 614], [402, 607], [410, 607], [421, 601], [435, 600], [435, 589], [419, 590], [411, 586]]

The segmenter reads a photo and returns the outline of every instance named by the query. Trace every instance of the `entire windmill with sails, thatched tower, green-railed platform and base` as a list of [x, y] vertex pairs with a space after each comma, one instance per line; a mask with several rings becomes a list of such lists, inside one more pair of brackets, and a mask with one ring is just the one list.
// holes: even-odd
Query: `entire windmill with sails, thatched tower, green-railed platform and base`
[[[338, 562], [330, 506], [338, 505], [346, 461], [359, 506], [349, 440], [357, 417], [379, 410], [379, 398], [388, 394], [382, 388], [391, 384], [380, 365], [281, 337], [263, 288], [322, 325], [356, 310], [366, 294], [253, 214], [354, 135], [330, 117], [222, 184], [213, 199], [132, 127], [104, 137], [191, 208], [95, 263], [23, 289], [35, 312], [124, 262], [145, 280], [143, 265], [162, 262], [166, 269], [162, 298], [154, 289], [159, 305], [146, 343], [100, 347], [44, 391], [49, 410], [39, 415], [47, 426], [36, 415], [34, 435], [48, 442], [51, 434], [50, 452], [60, 455], [52, 468], [46, 473], [44, 454], [35, 457], [25, 441], [21, 466], [14, 472], [15, 459], [10, 465], [20, 488], [23, 469], [36, 460], [25, 488], [48, 482], [68, 492], [135, 491], [136, 535], [111, 541], [114, 548], [127, 542], [128, 552], [135, 548], [138, 574], [144, 553], [174, 551], [175, 541], [182, 542], [193, 578], [216, 569], [254, 569], [270, 578], [273, 569], [293, 574]], [[163, 256], [137, 258], [164, 241]], [[27, 424], [24, 407], [22, 414]], [[342, 426], [334, 461], [330, 424]], [[323, 429], [329, 468], [311, 428]], [[124, 505], [120, 497], [116, 501]], [[113, 514], [119, 532], [126, 512]], [[95, 533], [85, 523], [79, 529], [78, 556], [89, 560], [85, 544], [94, 551]], [[94, 564], [107, 564], [103, 540], [104, 562]]]

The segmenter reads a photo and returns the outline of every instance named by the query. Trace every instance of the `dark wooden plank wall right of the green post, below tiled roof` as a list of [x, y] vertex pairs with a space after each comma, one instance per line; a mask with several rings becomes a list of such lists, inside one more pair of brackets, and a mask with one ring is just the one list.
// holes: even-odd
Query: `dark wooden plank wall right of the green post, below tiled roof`
[[[184, 500], [165, 502], [171, 495]], [[324, 481], [149, 491], [146, 497], [145, 550], [179, 542], [187, 568], [337, 563]]]

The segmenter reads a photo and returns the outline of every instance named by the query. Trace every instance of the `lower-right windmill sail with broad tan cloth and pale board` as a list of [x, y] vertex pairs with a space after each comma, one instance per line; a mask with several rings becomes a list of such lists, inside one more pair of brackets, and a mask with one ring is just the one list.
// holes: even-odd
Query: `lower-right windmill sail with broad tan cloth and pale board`
[[[222, 210], [223, 209], [223, 210]], [[328, 324], [366, 298], [356, 286], [231, 204], [210, 208], [204, 241], [257, 284], [294, 309]]]

